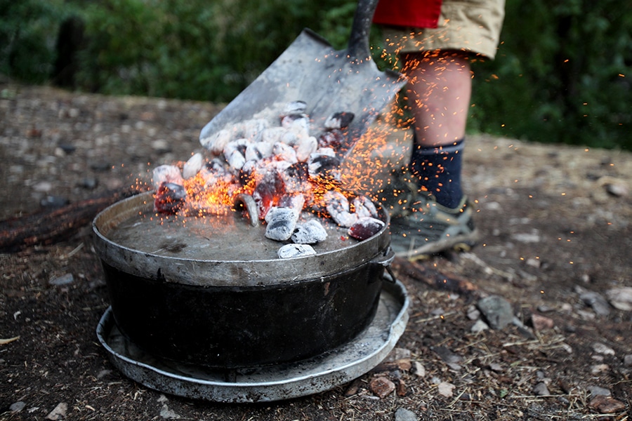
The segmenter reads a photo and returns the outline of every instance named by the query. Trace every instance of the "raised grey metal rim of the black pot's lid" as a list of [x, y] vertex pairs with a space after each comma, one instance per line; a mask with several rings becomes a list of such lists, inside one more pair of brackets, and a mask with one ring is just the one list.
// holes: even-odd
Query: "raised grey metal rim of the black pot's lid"
[[[322, 279], [380, 260], [390, 253], [388, 212], [378, 207], [384, 227], [371, 238], [316, 255], [289, 259], [202, 260], [146, 253], [115, 243], [102, 233], [153, 203], [145, 192], [108, 206], [93, 220], [93, 243], [108, 265], [132, 275], [192, 286], [270, 286]], [[121, 211], [122, 210], [122, 211]], [[378, 262], [378, 264], [382, 264]]]

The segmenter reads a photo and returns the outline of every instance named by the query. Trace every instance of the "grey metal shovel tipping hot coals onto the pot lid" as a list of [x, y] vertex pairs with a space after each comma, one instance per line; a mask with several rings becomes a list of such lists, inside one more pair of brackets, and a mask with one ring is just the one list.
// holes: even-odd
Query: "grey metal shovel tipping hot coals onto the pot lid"
[[[307, 103], [312, 127], [322, 128], [334, 112], [353, 112], [344, 155], [376, 115], [404, 86], [404, 76], [378, 70], [369, 51], [369, 31], [378, 0], [360, 0], [348, 48], [336, 51], [310, 29], [303, 32], [242, 93], [202, 128], [200, 140], [253, 118], [279, 119], [288, 102]], [[317, 133], [315, 133], [317, 135]]]

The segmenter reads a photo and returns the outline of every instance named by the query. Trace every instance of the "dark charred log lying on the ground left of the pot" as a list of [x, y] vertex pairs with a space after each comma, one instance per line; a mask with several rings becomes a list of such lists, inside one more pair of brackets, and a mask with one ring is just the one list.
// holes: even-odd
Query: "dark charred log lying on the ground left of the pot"
[[131, 190], [107, 192], [55, 210], [40, 210], [0, 221], [0, 251], [10, 253], [29, 246], [48, 246], [70, 239], [101, 210], [135, 193]]

